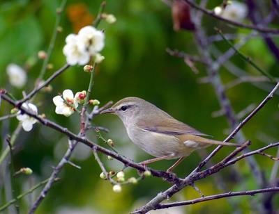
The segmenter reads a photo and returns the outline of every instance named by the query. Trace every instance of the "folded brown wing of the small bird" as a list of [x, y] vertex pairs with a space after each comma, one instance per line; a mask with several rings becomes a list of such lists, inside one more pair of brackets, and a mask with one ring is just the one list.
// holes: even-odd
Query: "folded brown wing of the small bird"
[[183, 122], [179, 122], [178, 120], [175, 120], [172, 117], [167, 118], [167, 120], [158, 118], [157, 121], [158, 122], [152, 125], [150, 125], [150, 123], [147, 122], [137, 122], [137, 126], [140, 126], [141, 129], [144, 129], [146, 131], [165, 133], [167, 135], [191, 134], [191, 135], [199, 135], [199, 136], [209, 136], [197, 131], [191, 126], [183, 124]]

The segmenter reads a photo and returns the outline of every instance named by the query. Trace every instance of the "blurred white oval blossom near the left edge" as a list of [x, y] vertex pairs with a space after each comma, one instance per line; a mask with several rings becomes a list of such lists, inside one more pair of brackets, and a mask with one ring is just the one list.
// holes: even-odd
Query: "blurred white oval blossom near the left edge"
[[8, 65], [7, 74], [9, 76], [10, 85], [15, 86], [16, 88], [22, 88], [27, 82], [26, 72], [18, 65]]

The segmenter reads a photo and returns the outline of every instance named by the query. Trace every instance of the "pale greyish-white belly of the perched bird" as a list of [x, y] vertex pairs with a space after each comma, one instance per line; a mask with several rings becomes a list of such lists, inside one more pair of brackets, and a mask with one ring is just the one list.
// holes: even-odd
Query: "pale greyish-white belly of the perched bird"
[[145, 131], [139, 128], [127, 129], [130, 140], [146, 153], [162, 157], [173, 155], [171, 158], [188, 156], [194, 149], [186, 147], [174, 135]]

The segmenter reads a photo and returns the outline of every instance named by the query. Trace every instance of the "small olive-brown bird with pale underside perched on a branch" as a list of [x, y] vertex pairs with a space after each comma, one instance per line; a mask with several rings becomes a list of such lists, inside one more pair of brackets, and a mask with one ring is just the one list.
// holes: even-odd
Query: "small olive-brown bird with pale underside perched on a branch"
[[143, 165], [164, 159], [179, 158], [167, 172], [197, 149], [209, 145], [234, 146], [234, 143], [203, 138], [206, 135], [191, 126], [179, 122], [153, 104], [137, 97], [126, 97], [116, 102], [112, 108], [102, 111], [120, 117], [130, 140], [156, 158], [143, 161]]

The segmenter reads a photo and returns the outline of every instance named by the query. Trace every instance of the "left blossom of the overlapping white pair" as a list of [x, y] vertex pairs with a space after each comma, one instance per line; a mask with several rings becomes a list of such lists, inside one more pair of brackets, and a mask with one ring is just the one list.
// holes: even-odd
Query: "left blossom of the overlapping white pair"
[[69, 65], [85, 65], [89, 62], [90, 56], [86, 51], [80, 51], [77, 47], [77, 35], [70, 34], [66, 38], [66, 45], [63, 47]]

